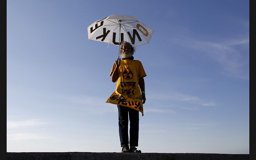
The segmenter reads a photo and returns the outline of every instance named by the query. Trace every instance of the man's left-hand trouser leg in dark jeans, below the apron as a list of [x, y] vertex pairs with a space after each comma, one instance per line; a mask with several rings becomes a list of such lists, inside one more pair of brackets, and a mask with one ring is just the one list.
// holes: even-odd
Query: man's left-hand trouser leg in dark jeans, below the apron
[[121, 147], [129, 146], [128, 138], [128, 107], [117, 105], [118, 108], [118, 126]]

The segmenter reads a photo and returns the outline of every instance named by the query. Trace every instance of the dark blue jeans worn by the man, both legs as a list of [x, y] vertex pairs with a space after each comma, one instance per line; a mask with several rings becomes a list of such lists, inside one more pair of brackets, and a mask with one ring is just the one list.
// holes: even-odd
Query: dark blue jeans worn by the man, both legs
[[139, 140], [139, 111], [121, 105], [117, 105], [117, 108], [121, 147], [129, 146], [128, 114], [130, 120], [130, 146], [137, 147]]

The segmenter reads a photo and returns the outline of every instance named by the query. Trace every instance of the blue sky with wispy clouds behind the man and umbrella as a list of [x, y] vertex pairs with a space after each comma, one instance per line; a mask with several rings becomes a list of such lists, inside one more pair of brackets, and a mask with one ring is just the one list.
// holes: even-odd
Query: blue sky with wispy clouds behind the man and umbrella
[[[146, 103], [138, 149], [249, 154], [249, 1], [7, 1], [7, 152], [121, 152], [109, 73], [87, 27], [132, 15]], [[107, 48], [108, 46], [108, 48]]]

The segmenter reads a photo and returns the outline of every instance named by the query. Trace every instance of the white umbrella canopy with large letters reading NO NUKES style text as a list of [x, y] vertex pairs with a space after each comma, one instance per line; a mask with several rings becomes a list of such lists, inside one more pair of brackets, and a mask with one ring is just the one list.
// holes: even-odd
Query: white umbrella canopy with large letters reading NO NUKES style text
[[110, 15], [92, 23], [88, 28], [88, 39], [119, 45], [130, 42], [133, 47], [146, 43], [153, 31], [134, 16]]

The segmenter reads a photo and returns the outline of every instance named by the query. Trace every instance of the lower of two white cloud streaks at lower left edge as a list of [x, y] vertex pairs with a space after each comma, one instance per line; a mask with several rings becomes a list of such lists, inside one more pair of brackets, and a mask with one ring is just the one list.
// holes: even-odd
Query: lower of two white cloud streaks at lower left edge
[[31, 134], [31, 133], [14, 133], [14, 134], [7, 135], [8, 140], [28, 140], [28, 139], [45, 139], [45, 138], [49, 138], [49, 137], [45, 135]]

